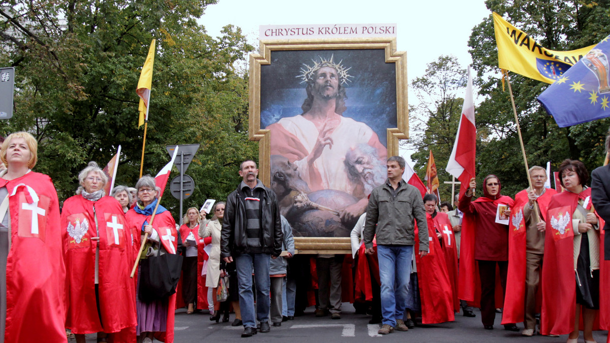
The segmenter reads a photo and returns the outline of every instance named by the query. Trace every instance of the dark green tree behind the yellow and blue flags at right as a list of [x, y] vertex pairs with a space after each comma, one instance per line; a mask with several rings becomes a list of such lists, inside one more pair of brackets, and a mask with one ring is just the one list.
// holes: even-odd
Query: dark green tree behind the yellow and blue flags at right
[[[487, 8], [503, 15], [545, 48], [571, 50], [598, 43], [610, 32], [610, 1], [488, 0]], [[513, 195], [528, 183], [508, 90], [502, 90], [491, 14], [473, 28], [470, 40], [475, 83], [484, 101], [476, 108], [477, 175], [496, 174], [503, 193]], [[547, 84], [510, 73], [515, 107], [529, 166], [554, 170], [565, 158], [581, 160], [591, 171], [603, 163], [603, 140], [610, 121], [602, 119], [559, 128], [536, 97]]]

